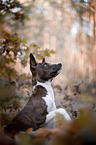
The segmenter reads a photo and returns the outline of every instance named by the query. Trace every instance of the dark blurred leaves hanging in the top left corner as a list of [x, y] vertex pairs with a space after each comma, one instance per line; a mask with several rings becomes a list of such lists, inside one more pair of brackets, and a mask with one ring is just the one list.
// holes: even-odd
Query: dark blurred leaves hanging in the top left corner
[[[31, 1], [32, 2], [32, 1]], [[24, 19], [28, 18], [28, 9], [29, 5], [27, 5], [29, 1], [25, 1], [24, 3], [20, 3], [18, 0], [1, 0], [0, 1], [0, 18], [3, 19], [12, 19], [19, 20], [24, 24]], [[10, 22], [9, 22], [10, 23]]]

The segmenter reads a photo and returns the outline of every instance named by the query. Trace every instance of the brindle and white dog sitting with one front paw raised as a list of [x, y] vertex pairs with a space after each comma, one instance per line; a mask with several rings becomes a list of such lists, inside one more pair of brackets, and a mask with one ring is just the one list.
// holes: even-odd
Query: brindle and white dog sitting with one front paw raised
[[[51, 87], [52, 80], [60, 73], [62, 64], [49, 64], [43, 58], [42, 63], [37, 63], [30, 53], [30, 70], [32, 72], [33, 93], [26, 106], [4, 128], [9, 134], [17, 134], [32, 128], [33, 131], [46, 126], [52, 127], [51, 121], [57, 113], [63, 115], [65, 120], [71, 120], [68, 113], [56, 108], [54, 92]], [[53, 125], [54, 126], [54, 125]]]

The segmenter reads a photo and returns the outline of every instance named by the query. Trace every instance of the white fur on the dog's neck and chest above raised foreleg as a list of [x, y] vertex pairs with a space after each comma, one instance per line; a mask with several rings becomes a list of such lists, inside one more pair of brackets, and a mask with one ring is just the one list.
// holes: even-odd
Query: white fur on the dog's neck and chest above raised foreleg
[[55, 110], [56, 105], [55, 105], [55, 101], [54, 101], [54, 92], [51, 87], [51, 82], [49, 82], [49, 81], [45, 82], [45, 83], [37, 82], [36, 86], [37, 85], [41, 85], [44, 88], [46, 88], [46, 90], [47, 90], [47, 95], [45, 97], [42, 97], [46, 102], [47, 112], [49, 113], [49, 112]]

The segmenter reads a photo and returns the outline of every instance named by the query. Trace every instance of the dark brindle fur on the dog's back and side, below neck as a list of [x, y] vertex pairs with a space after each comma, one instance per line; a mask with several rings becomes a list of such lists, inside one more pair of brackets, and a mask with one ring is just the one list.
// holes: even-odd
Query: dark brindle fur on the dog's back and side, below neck
[[4, 128], [6, 132], [16, 134], [19, 131], [26, 131], [28, 128], [38, 129], [44, 124], [47, 115], [47, 106], [42, 97], [47, 91], [42, 86], [36, 86], [32, 96], [22, 111]]

